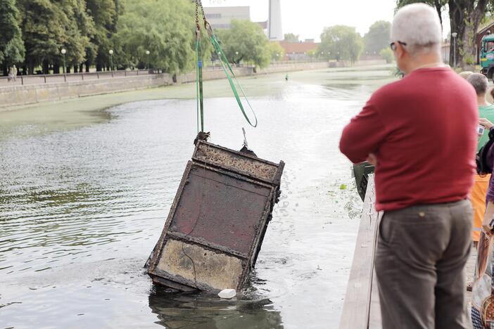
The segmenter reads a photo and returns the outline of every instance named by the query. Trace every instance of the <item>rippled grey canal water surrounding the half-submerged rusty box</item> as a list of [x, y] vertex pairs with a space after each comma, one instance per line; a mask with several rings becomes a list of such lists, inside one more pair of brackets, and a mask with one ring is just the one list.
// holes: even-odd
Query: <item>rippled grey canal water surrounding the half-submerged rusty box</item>
[[240, 149], [246, 127], [258, 156], [286, 162], [255, 271], [230, 301], [153, 287], [143, 269], [194, 150], [195, 100], [125, 103], [56, 129], [0, 112], [0, 328], [337, 328], [362, 206], [338, 138], [390, 75], [246, 80], [262, 90], [256, 129], [234, 99], [205, 100], [213, 143]]

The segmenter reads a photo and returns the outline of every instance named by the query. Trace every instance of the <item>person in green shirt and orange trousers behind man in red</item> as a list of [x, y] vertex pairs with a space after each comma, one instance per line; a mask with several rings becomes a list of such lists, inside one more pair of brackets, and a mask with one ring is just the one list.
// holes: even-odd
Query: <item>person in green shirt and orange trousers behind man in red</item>
[[[488, 103], [486, 94], [488, 89], [487, 77], [480, 73], [474, 73], [467, 77], [467, 81], [474, 86], [477, 93], [477, 104], [479, 105], [479, 117], [487, 119], [490, 122], [494, 122], [494, 105]], [[477, 152], [482, 146], [484, 146], [489, 140], [488, 129], [486, 129], [481, 136], [479, 136], [479, 143], [477, 145]], [[474, 245], [479, 243], [483, 215], [486, 212], [486, 195], [489, 186], [490, 175], [487, 176], [475, 176], [474, 187], [471, 191], [471, 203], [474, 207], [474, 231], [472, 232], [472, 238]]]

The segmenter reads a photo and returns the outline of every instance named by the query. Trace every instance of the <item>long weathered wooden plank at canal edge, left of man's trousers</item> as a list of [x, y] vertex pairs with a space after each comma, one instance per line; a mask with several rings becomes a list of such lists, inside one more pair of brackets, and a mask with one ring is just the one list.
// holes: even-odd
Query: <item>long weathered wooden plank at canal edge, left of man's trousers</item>
[[[369, 328], [372, 278], [378, 214], [374, 207], [374, 176], [369, 176], [360, 227], [353, 254], [350, 278], [346, 289], [340, 329]], [[369, 260], [372, 260], [369, 262]]]

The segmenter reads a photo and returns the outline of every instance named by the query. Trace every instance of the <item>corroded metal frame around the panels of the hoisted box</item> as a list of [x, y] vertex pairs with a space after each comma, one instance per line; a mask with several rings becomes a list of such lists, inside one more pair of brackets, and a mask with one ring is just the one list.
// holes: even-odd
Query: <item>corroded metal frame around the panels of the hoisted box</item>
[[[205, 153], [213, 150], [213, 153], [217, 155], [208, 158]], [[222, 158], [221, 158], [222, 157]], [[226, 160], [233, 160], [232, 165], [225, 163]], [[239, 168], [238, 162], [235, 160], [241, 159], [243, 161], [243, 167]], [[237, 166], [235, 167], [235, 164]], [[186, 235], [177, 231], [170, 231], [170, 226], [172, 225], [173, 218], [175, 217], [175, 212], [182, 198], [184, 188], [188, 183], [189, 176], [193, 167], [198, 167], [201, 169], [209, 170], [211, 172], [216, 172], [218, 174], [230, 176], [235, 180], [246, 181], [248, 183], [262, 186], [263, 188], [268, 188], [270, 190], [269, 196], [266, 197], [264, 209], [262, 210], [262, 217], [258, 221], [258, 225], [255, 227], [255, 234], [252, 236], [250, 243], [250, 250], [248, 254], [239, 252], [237, 250], [232, 250], [227, 246], [217, 245], [215, 243], [210, 243], [205, 239], [197, 238], [193, 236]], [[205, 141], [198, 141], [196, 143], [196, 148], [194, 150], [194, 155], [192, 156], [192, 161], [189, 161], [186, 165], [186, 169], [182, 176], [182, 181], [180, 181], [177, 194], [170, 207], [170, 213], [168, 214], [165, 227], [163, 232], [153, 250], [150, 258], [148, 259], [148, 274], [153, 279], [154, 283], [161, 285], [166, 285], [170, 288], [174, 288], [182, 291], [190, 290], [214, 290], [208, 285], [203, 285], [192, 280], [182, 278], [180, 276], [172, 276], [166, 271], [157, 269], [158, 263], [163, 254], [163, 249], [168, 240], [178, 240], [189, 244], [198, 245], [207, 250], [213, 252], [221, 252], [222, 254], [227, 254], [231, 257], [235, 257], [241, 261], [242, 273], [239, 278], [238, 286], [236, 290], [240, 290], [245, 282], [248, 273], [255, 266], [255, 262], [260, 252], [260, 247], [262, 245], [262, 240], [264, 239], [265, 232], [267, 230], [267, 224], [271, 219], [272, 209], [274, 204], [277, 202], [277, 197], [279, 193], [279, 184], [281, 181], [281, 174], [284, 169], [284, 162], [275, 164], [266, 160], [262, 160], [258, 157], [253, 157], [251, 155], [246, 155], [244, 153], [239, 153], [234, 150], [229, 150], [227, 148], [222, 148], [221, 146], [216, 146], [212, 143], [207, 143]]]

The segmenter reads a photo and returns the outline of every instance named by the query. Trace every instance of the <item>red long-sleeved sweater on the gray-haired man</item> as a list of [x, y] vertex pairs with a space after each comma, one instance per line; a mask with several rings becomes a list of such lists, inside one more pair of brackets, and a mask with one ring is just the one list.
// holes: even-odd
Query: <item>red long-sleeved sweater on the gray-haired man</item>
[[450, 68], [424, 68], [376, 91], [340, 150], [354, 163], [376, 155], [378, 211], [454, 202], [474, 183], [478, 126], [474, 88]]

